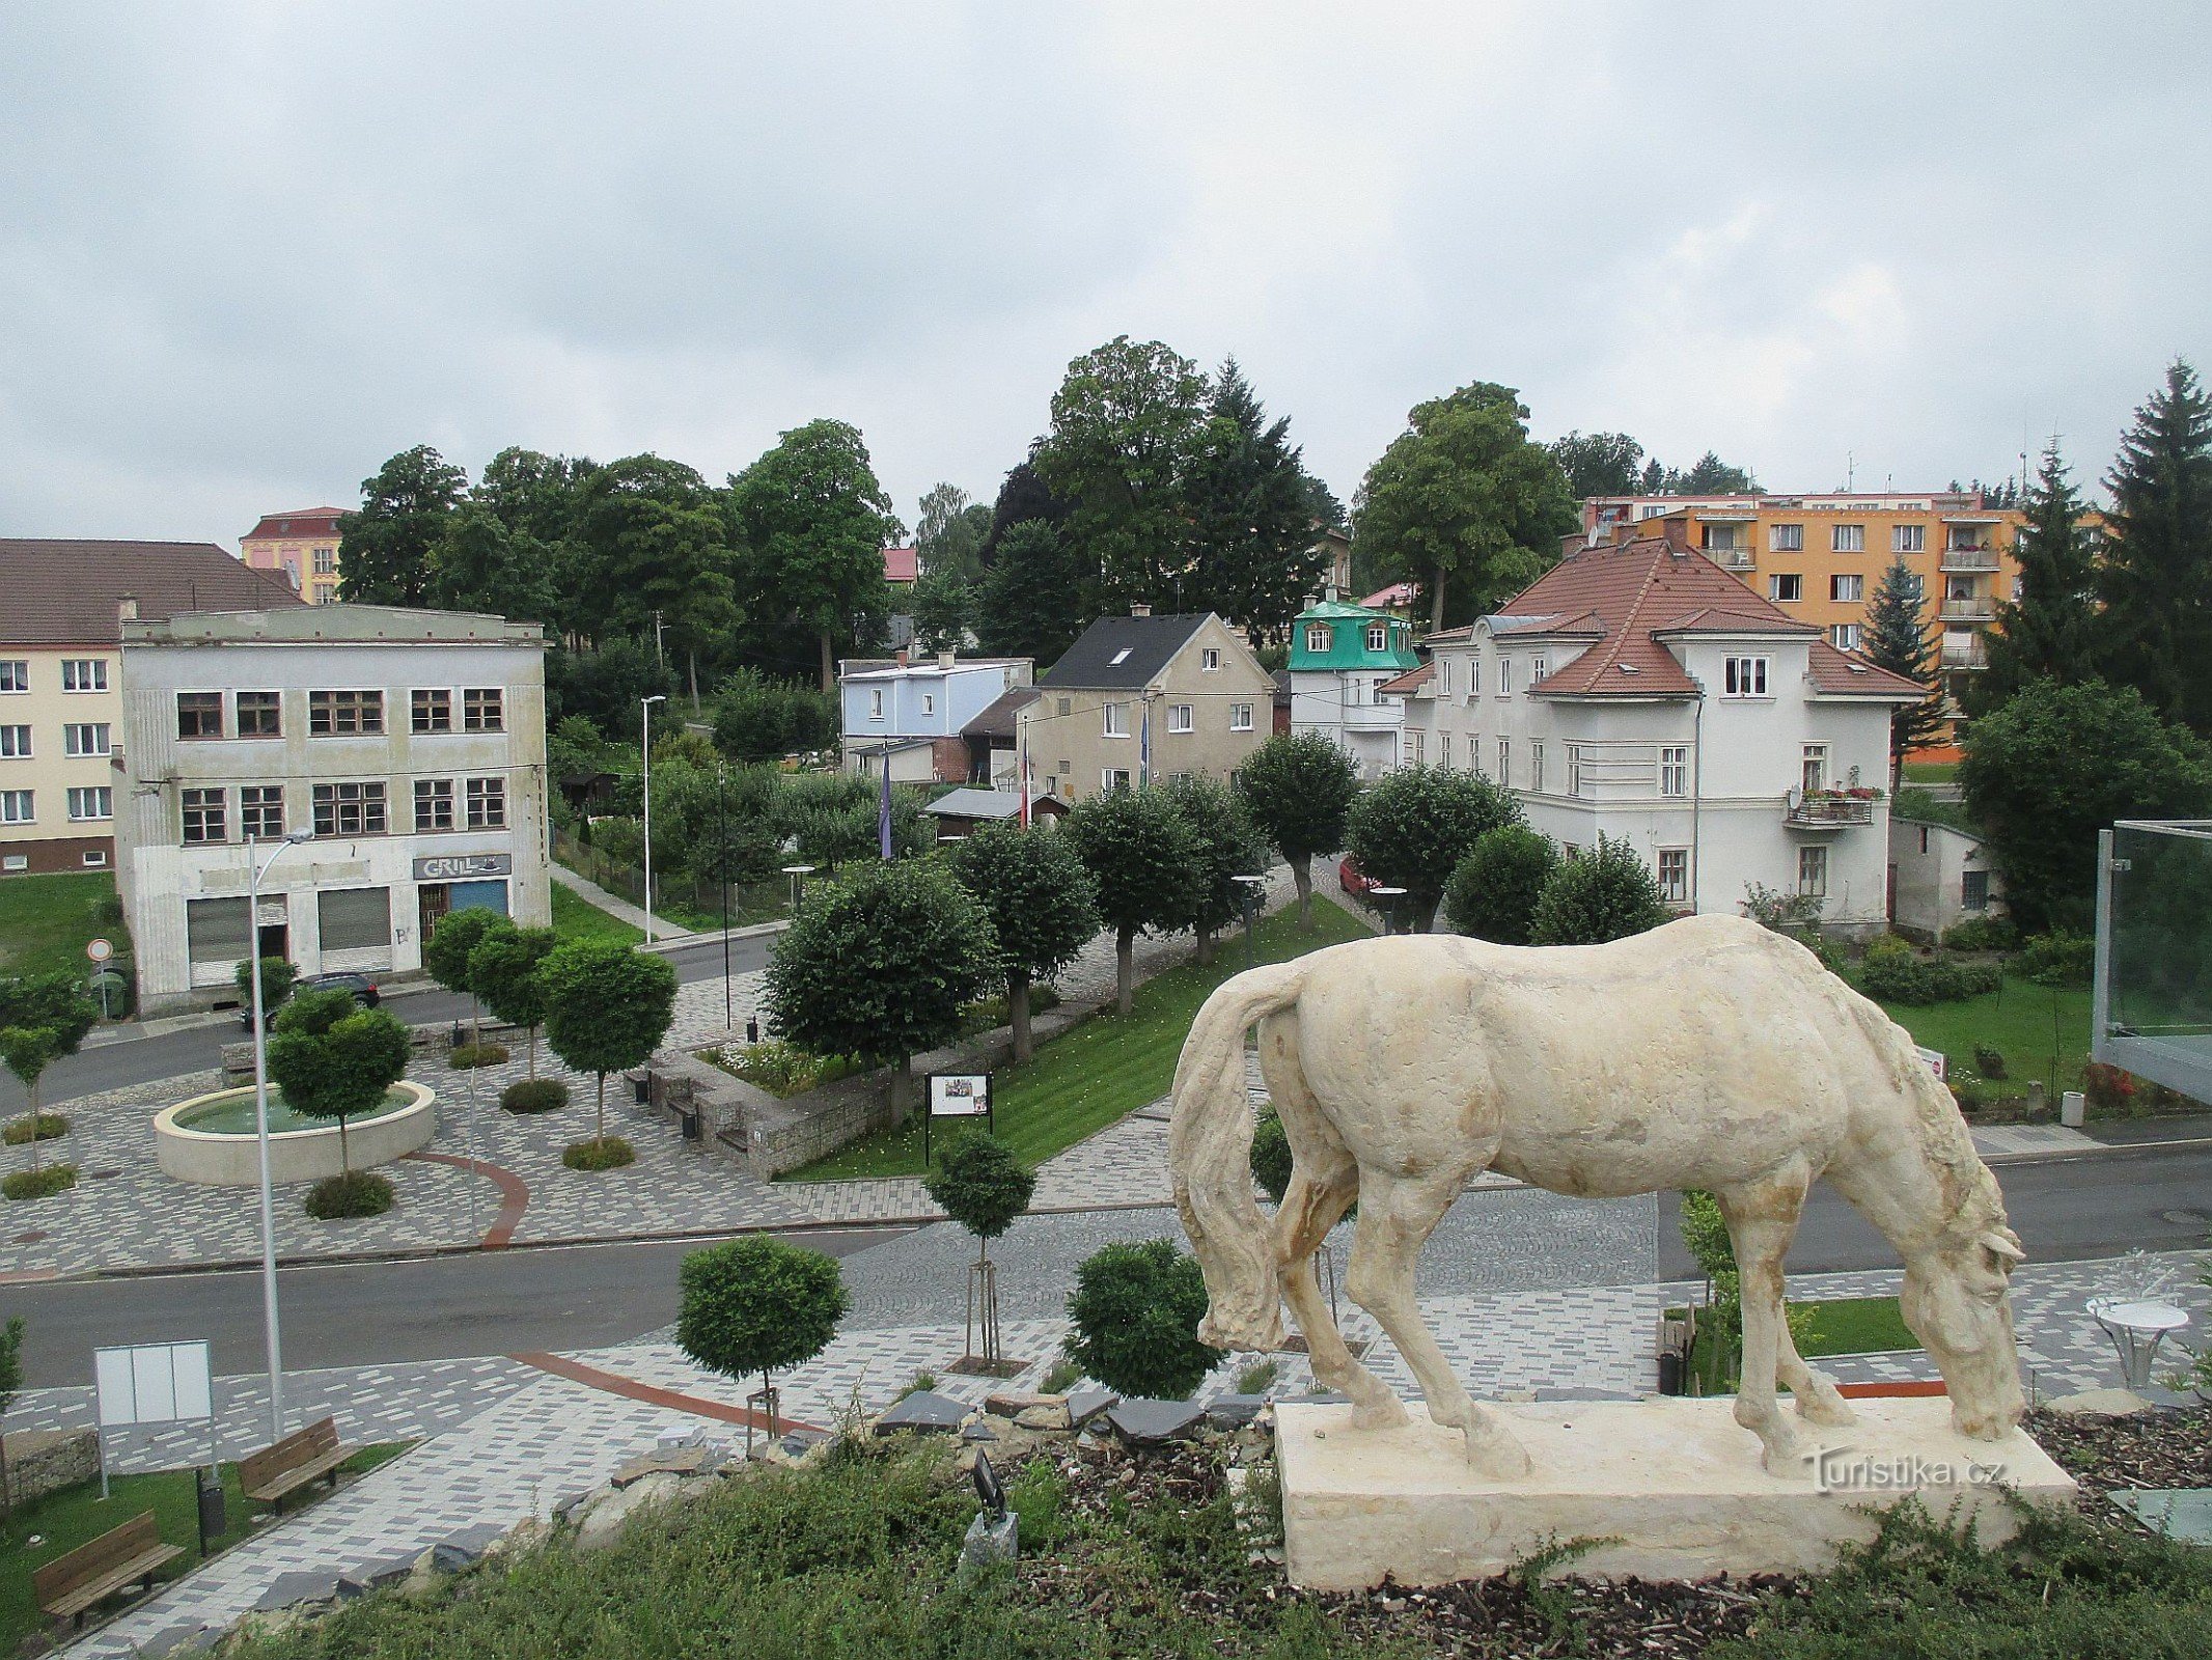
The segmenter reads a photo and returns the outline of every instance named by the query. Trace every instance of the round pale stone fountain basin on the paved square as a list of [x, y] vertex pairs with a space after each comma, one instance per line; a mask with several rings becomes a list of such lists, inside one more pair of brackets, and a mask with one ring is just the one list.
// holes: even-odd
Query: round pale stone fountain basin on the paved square
[[[374, 1113], [345, 1120], [345, 1144], [356, 1171], [389, 1164], [438, 1133], [429, 1089], [400, 1080]], [[254, 1135], [254, 1091], [217, 1089], [164, 1107], [153, 1118], [155, 1160], [164, 1175], [204, 1186], [254, 1186], [261, 1151]], [[270, 1182], [319, 1182], [338, 1175], [336, 1120], [303, 1118], [270, 1089]]]

